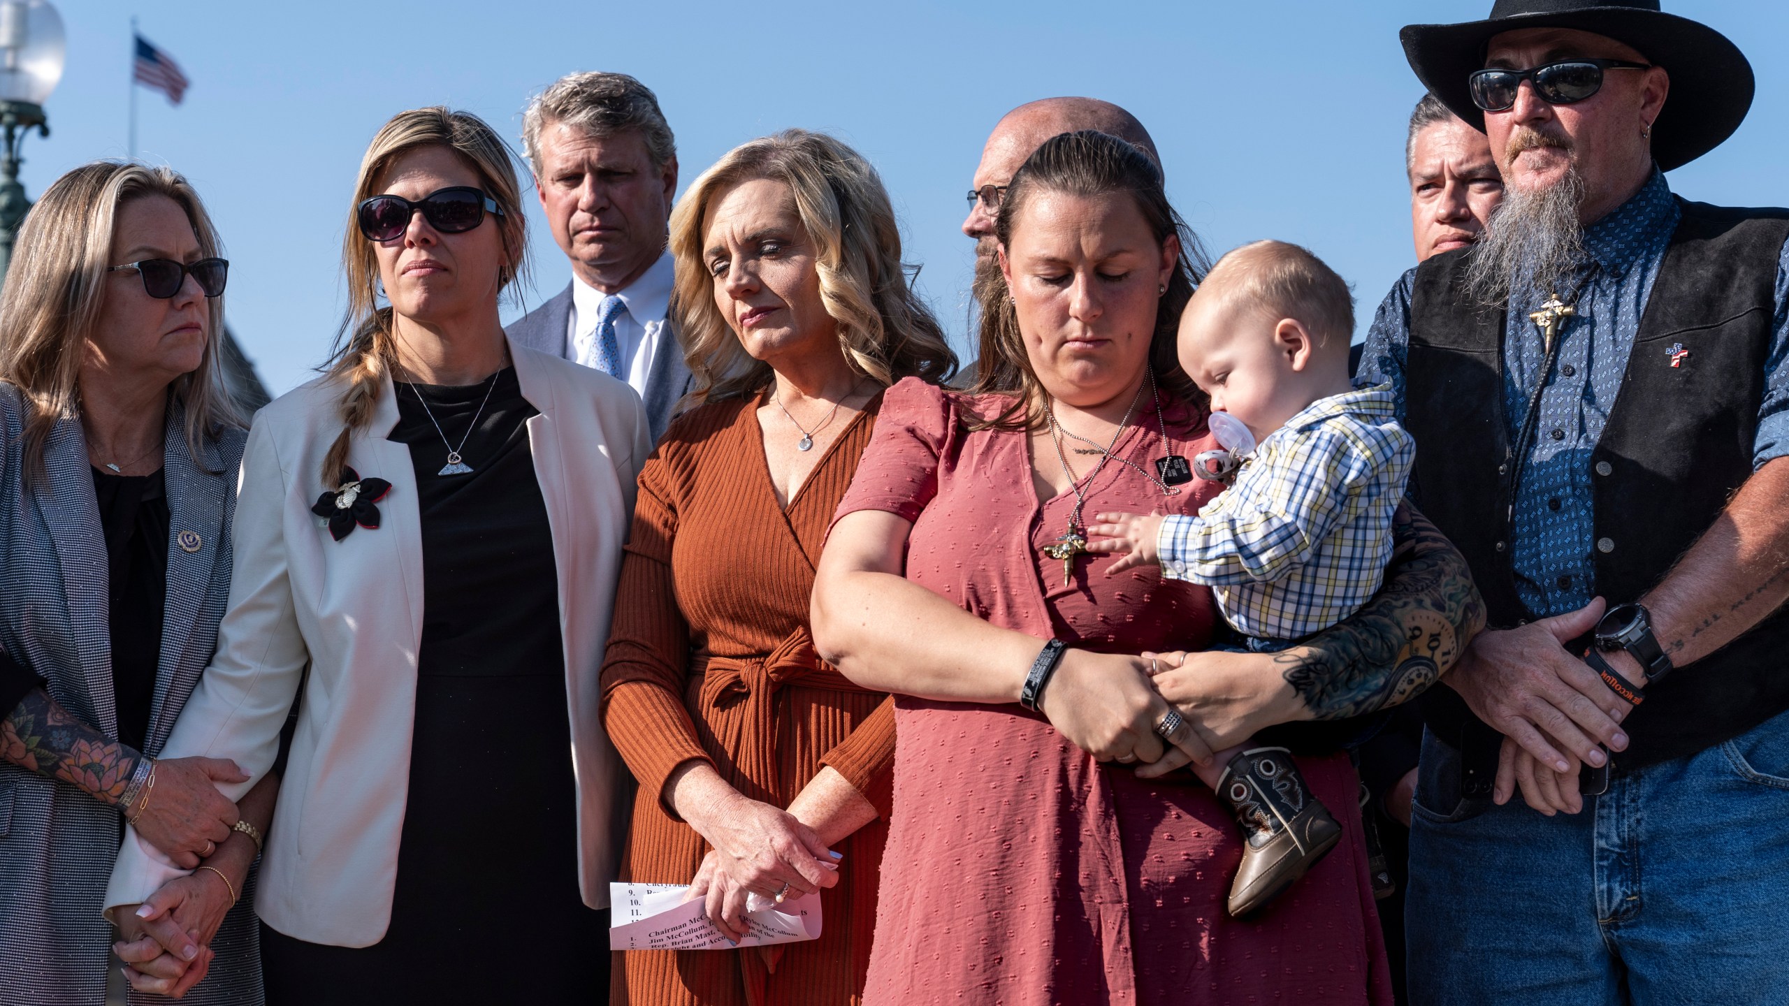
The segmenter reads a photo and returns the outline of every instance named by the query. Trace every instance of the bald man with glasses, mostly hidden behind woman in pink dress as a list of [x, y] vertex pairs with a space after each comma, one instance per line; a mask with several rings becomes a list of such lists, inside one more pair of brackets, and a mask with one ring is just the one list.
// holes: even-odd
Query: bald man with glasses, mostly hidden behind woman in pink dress
[[[1000, 199], [1005, 186], [1018, 174], [1025, 158], [1043, 145], [1045, 140], [1063, 132], [1081, 129], [1098, 129], [1120, 140], [1138, 145], [1156, 166], [1161, 168], [1161, 154], [1149, 131], [1125, 109], [1098, 98], [1041, 98], [1025, 102], [1000, 116], [995, 131], [982, 145], [982, 163], [975, 166], [970, 192], [970, 215], [962, 218], [962, 233], [975, 240], [975, 299], [980, 301], [982, 285], [1000, 276], [995, 265], [995, 217], [1000, 213]], [[970, 363], [957, 378], [959, 387], [975, 383], [977, 367]]]

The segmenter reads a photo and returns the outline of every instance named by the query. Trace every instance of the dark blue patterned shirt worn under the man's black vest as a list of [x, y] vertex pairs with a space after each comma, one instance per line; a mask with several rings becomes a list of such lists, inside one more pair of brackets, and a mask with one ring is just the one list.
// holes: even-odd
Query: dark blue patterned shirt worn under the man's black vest
[[[1540, 392], [1540, 422], [1522, 469], [1510, 532], [1515, 591], [1528, 610], [1555, 616], [1590, 603], [1596, 596], [1596, 514], [1590, 451], [1615, 406], [1641, 315], [1664, 261], [1678, 206], [1664, 174], [1651, 179], [1614, 213], [1585, 227], [1589, 254], [1580, 292], [1560, 335], [1553, 379]], [[1404, 363], [1410, 345], [1410, 294], [1417, 270], [1397, 281], [1367, 333], [1356, 383], [1390, 381], [1397, 417], [1404, 419]], [[1567, 290], [1558, 290], [1569, 299]], [[1521, 431], [1528, 397], [1542, 367], [1540, 331], [1528, 317], [1544, 295], [1510, 303], [1503, 340], [1503, 415], [1510, 442]], [[1766, 360], [1764, 399], [1753, 439], [1753, 469], [1789, 455], [1789, 243], [1776, 261], [1776, 313]], [[1419, 501], [1420, 503], [1420, 501]], [[1660, 571], [1662, 573], [1662, 571]], [[1633, 598], [1612, 598], [1628, 601]]]

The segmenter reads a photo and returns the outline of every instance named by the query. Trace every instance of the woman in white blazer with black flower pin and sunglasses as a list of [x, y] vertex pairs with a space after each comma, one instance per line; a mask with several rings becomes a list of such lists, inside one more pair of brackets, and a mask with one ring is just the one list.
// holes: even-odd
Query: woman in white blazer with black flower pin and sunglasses
[[[488, 125], [394, 116], [335, 360], [249, 433], [238, 591], [170, 750], [261, 777], [299, 696], [256, 902], [268, 1002], [606, 986], [623, 768], [598, 668], [651, 444], [626, 385], [504, 338], [522, 222]], [[125, 841], [107, 902], [159, 909], [172, 874]]]

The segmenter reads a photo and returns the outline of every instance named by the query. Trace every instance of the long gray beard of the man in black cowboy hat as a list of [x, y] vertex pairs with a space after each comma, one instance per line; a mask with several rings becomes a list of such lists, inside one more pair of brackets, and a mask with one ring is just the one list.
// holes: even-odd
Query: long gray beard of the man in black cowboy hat
[[1578, 224], [1583, 188], [1576, 166], [1539, 192], [1510, 186], [1467, 258], [1467, 295], [1499, 310], [1512, 297], [1558, 292], [1583, 261], [1583, 227]]

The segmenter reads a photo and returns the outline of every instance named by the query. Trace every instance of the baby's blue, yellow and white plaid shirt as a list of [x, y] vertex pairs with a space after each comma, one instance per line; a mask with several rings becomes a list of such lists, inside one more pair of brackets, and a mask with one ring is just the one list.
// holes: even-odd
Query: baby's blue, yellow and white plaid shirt
[[1390, 385], [1317, 399], [1197, 517], [1161, 521], [1161, 573], [1211, 587], [1243, 635], [1322, 632], [1379, 589], [1415, 453]]

